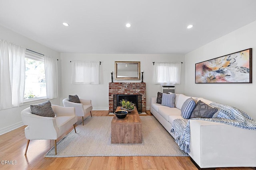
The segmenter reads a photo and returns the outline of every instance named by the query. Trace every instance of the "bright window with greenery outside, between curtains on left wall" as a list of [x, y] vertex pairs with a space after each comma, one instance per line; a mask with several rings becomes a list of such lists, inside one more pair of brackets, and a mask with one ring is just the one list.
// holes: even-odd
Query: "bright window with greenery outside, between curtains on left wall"
[[44, 57], [26, 51], [24, 102], [46, 98]]

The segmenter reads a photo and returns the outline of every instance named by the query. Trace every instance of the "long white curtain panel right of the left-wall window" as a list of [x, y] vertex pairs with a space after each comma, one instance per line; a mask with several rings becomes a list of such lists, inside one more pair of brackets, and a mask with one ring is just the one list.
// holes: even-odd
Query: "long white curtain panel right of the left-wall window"
[[57, 59], [44, 55], [44, 69], [46, 78], [46, 97], [58, 98], [58, 65]]

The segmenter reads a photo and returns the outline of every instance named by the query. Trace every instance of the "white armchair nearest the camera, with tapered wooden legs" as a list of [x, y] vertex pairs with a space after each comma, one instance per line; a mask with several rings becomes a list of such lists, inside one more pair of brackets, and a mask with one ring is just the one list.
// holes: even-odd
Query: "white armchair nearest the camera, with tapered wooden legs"
[[43, 117], [32, 114], [30, 107], [21, 111], [21, 117], [25, 127], [25, 136], [28, 139], [25, 155], [28, 150], [30, 140], [34, 139], [50, 139], [54, 141], [55, 154], [57, 154], [56, 140], [63, 133], [70, 129], [70, 126], [74, 126], [75, 133], [77, 117], [75, 115], [74, 107], [62, 107], [52, 105], [55, 117]]

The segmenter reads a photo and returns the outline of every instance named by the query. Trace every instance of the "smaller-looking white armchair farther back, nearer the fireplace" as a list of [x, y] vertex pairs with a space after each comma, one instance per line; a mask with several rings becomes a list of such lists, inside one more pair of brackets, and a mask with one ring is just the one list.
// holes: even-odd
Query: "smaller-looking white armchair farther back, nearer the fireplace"
[[[92, 100], [79, 99], [80, 103], [69, 102], [68, 98], [62, 100], [65, 107], [75, 107], [76, 116], [82, 116], [84, 125], [84, 119], [91, 114], [92, 117]], [[89, 114], [90, 113], [90, 114]]]

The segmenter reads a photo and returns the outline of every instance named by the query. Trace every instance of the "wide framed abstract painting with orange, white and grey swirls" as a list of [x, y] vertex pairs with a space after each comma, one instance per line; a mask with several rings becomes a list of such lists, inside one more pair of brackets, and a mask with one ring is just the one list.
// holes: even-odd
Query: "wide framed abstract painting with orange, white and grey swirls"
[[252, 83], [252, 48], [196, 63], [195, 83]]

